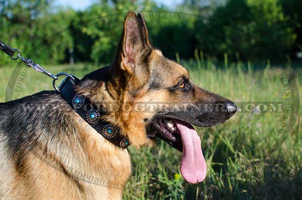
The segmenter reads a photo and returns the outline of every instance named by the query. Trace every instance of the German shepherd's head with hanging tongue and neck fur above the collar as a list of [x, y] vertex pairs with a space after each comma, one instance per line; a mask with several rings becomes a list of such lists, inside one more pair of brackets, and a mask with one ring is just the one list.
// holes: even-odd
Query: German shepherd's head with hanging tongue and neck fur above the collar
[[121, 109], [105, 119], [118, 125], [133, 146], [161, 138], [183, 151], [181, 173], [188, 182], [205, 178], [201, 141], [192, 125], [222, 123], [234, 115], [236, 105], [199, 88], [183, 66], [153, 48], [140, 14], [128, 13], [114, 63], [92, 74], [83, 87], [91, 88], [97, 103], [118, 104]]

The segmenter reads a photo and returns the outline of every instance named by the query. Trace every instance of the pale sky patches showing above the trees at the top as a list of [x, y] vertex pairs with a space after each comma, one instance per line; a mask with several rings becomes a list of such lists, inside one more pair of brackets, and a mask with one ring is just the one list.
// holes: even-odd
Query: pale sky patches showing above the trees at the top
[[[60, 6], [69, 6], [73, 8], [74, 10], [84, 10], [87, 7], [89, 7], [94, 1], [93, 0], [57, 0], [55, 2], [55, 5], [60, 5]], [[168, 7], [173, 7], [173, 5], [181, 3], [182, 0], [165, 0], [165, 1], [160, 1], [156, 0], [158, 4], [163, 3], [164, 5]]]

